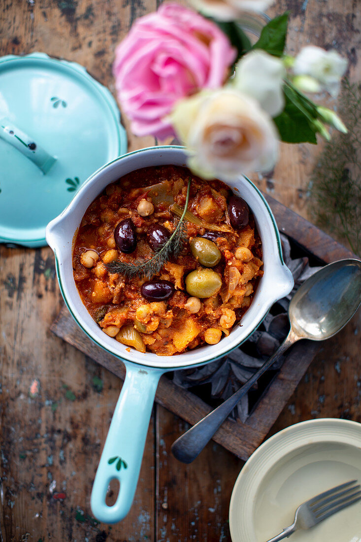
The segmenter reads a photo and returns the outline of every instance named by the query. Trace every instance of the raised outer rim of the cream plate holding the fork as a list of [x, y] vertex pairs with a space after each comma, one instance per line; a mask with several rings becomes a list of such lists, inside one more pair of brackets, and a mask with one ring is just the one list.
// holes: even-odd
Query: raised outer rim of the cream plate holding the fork
[[[333, 431], [331, 431], [333, 429]], [[336, 429], [336, 430], [335, 430]], [[304, 435], [302, 435], [304, 433]], [[307, 437], [308, 433], [308, 437]], [[352, 434], [352, 438], [349, 434]], [[301, 434], [301, 437], [300, 437]], [[350, 440], [345, 442], [344, 438], [349, 438]], [[343, 437], [343, 438], [340, 438]], [[358, 437], [358, 440], [355, 437]], [[279, 451], [278, 454], [274, 454], [278, 444], [288, 440], [288, 446]], [[308, 438], [308, 441], [304, 440]], [[229, 530], [231, 535], [231, 540], [233, 542], [240, 542], [239, 538], [239, 529], [236, 524], [235, 517], [240, 515], [240, 501], [237, 501], [237, 492], [239, 491], [242, 482], [245, 487], [243, 489], [244, 493], [247, 495], [249, 493], [250, 483], [248, 479], [252, 478], [254, 469], [257, 467], [257, 463], [260, 461], [263, 455], [273, 454], [273, 463], [279, 461], [285, 455], [291, 453], [292, 451], [305, 446], [306, 444], [317, 444], [321, 442], [333, 442], [333, 443], [344, 443], [345, 446], [353, 446], [354, 448], [361, 449], [361, 423], [354, 422], [352, 420], [344, 420], [341, 418], [315, 418], [314, 420], [306, 420], [304, 422], [295, 423], [289, 425], [285, 429], [278, 431], [272, 437], [269, 437], [265, 442], [257, 448], [254, 453], [249, 457], [249, 459], [244, 463], [241, 472], [238, 474], [235, 481], [230, 503], [229, 503]], [[287, 444], [287, 442], [286, 442]], [[269, 472], [270, 466], [264, 470], [261, 479], [265, 478]], [[260, 476], [259, 476], [260, 478]], [[247, 487], [248, 486], [248, 487]], [[259, 483], [256, 484], [256, 487], [259, 487]], [[256, 491], [256, 489], [254, 490]], [[248, 495], [249, 499], [249, 495]], [[253, 501], [253, 499], [249, 499]], [[252, 508], [254, 502], [252, 502]], [[237, 512], [237, 514], [236, 514]], [[252, 517], [252, 514], [248, 517]], [[249, 522], [248, 522], [249, 525]], [[243, 536], [247, 536], [247, 532], [241, 533]], [[242, 542], [249, 542], [249, 537], [242, 539]], [[252, 540], [254, 542], [254, 540]]]

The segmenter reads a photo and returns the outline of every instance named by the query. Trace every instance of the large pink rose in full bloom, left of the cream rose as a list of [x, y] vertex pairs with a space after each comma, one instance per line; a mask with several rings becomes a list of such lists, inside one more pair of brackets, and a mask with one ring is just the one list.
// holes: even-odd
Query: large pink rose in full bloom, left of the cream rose
[[175, 103], [201, 88], [220, 87], [236, 51], [217, 27], [176, 3], [140, 17], [115, 50], [118, 98], [136, 135], [174, 135]]

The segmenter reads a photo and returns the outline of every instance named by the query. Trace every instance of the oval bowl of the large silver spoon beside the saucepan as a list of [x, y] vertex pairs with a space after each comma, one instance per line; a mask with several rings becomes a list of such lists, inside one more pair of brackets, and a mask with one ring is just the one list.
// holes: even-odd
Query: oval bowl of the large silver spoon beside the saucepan
[[361, 302], [361, 261], [329, 263], [293, 296], [288, 315], [299, 338], [325, 340], [343, 328]]

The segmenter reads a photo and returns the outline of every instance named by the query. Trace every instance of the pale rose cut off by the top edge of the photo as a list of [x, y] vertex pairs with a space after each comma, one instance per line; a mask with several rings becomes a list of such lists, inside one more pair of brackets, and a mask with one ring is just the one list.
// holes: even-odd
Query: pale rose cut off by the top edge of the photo
[[236, 21], [244, 11], [265, 11], [274, 0], [189, 0], [205, 15], [219, 21]]

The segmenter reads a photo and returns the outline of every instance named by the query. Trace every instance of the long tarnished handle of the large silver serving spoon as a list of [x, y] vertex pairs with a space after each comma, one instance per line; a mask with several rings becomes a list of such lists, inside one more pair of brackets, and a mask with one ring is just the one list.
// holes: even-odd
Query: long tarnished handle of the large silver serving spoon
[[247, 380], [247, 382], [237, 390], [231, 397], [224, 401], [220, 406], [217, 406], [215, 410], [212, 410], [208, 416], [202, 418], [201, 421], [196, 423], [191, 429], [186, 431], [172, 444], [172, 453], [179, 461], [183, 463], [191, 463], [196, 459], [197, 455], [201, 453], [205, 445], [210, 441], [217, 429], [222, 425], [225, 418], [234, 409], [241, 397], [245, 395], [250, 388], [257, 382], [261, 375], [266, 372], [272, 365], [282, 356], [293, 343], [299, 340], [293, 330], [291, 329], [274, 354], [267, 360], [267, 362], [260, 367], [260, 369], [254, 373], [254, 375]]

